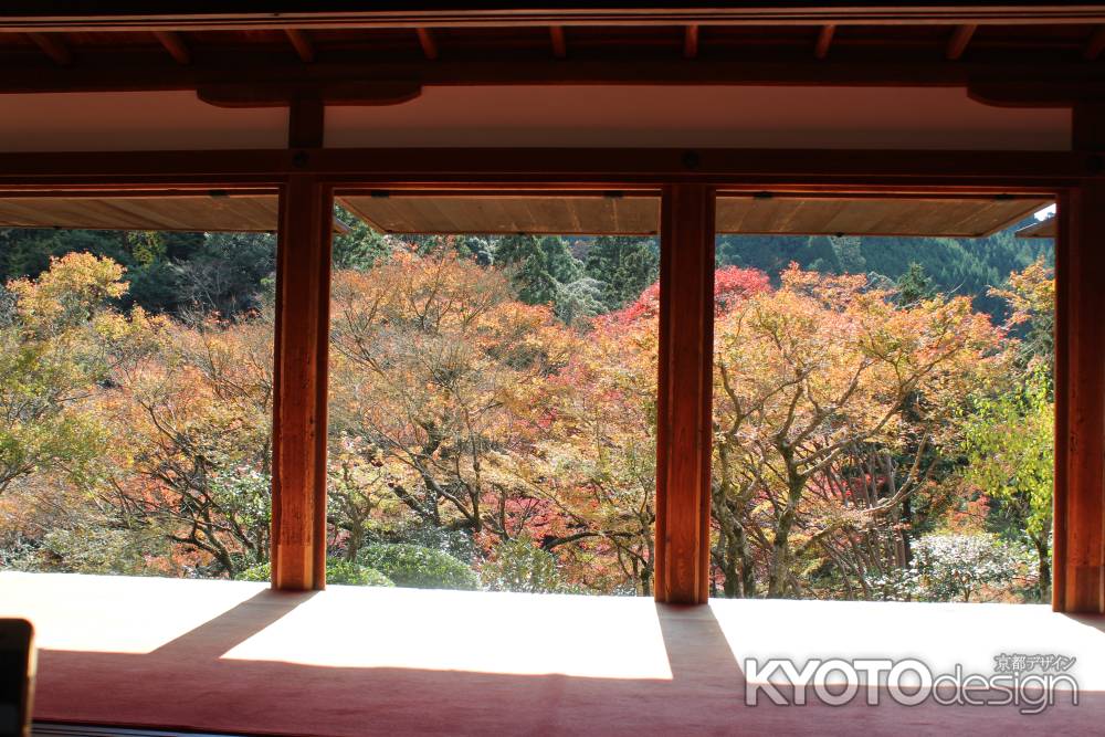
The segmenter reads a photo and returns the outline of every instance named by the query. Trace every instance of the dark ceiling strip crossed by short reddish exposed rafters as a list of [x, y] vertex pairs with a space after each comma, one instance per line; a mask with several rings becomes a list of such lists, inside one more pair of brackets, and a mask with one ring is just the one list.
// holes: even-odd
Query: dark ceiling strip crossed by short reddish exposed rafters
[[[1102, 13], [1105, 19], [1105, 13]], [[244, 51], [280, 63], [360, 59], [379, 62], [466, 61], [488, 54], [515, 60], [601, 59], [620, 50], [684, 59], [780, 61], [798, 56], [862, 59], [892, 50], [901, 61], [1009, 60], [1031, 54], [1096, 60], [1105, 33], [1096, 23], [1062, 24], [829, 24], [755, 25], [525, 25], [263, 28], [261, 30], [21, 31], [0, 17], [0, 54], [10, 61], [95, 67], [117, 59], [148, 57], [179, 65], [215, 61]], [[201, 27], [203, 29], [203, 27]], [[134, 70], [140, 72], [140, 70]], [[228, 70], [231, 72], [231, 70]]]

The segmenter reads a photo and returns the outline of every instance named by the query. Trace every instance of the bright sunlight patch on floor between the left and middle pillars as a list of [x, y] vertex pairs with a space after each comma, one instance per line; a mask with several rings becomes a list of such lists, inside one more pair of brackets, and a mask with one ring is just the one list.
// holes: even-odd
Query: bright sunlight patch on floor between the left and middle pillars
[[223, 657], [670, 680], [649, 599], [329, 587]]

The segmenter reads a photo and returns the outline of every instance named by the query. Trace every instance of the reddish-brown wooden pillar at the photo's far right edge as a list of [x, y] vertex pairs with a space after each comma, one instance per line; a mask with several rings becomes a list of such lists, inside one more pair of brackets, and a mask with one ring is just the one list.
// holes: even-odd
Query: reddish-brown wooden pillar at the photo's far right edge
[[1055, 249], [1056, 611], [1105, 611], [1105, 183], [1059, 202]]

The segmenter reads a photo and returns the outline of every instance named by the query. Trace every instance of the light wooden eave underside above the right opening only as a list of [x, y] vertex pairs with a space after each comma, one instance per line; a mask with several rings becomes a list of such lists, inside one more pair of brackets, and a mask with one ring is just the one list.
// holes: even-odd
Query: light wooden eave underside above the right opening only
[[718, 233], [981, 238], [1051, 204], [1041, 198], [724, 196]]

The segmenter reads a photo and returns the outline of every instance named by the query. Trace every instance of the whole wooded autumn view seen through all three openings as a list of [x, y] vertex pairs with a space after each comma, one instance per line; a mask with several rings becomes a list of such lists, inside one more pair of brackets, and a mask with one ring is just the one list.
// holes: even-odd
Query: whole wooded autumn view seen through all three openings
[[[656, 241], [348, 222], [329, 580], [649, 594]], [[712, 593], [1046, 597], [1050, 259], [720, 239]], [[274, 267], [263, 233], [0, 231], [0, 568], [267, 577]]]

